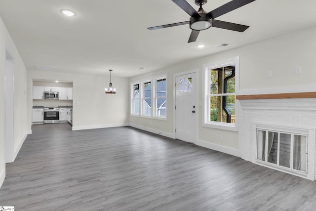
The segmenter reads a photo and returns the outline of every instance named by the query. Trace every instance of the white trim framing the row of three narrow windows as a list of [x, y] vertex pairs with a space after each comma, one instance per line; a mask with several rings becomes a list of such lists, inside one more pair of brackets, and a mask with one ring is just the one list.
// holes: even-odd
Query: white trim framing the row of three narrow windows
[[[140, 117], [140, 118], [146, 118], [146, 119], [156, 119], [156, 120], [162, 120], [162, 121], [167, 121], [167, 111], [168, 111], [168, 107], [166, 108], [166, 116], [157, 116], [156, 115], [156, 83], [158, 80], [160, 79], [166, 79], [166, 101], [168, 103], [167, 100], [167, 95], [168, 95], [168, 79], [167, 79], [167, 74], [163, 74], [163, 75], [159, 75], [156, 77], [152, 77], [150, 79], [144, 79], [142, 81], [139, 82], [131, 82], [131, 92], [130, 92], [130, 116], [132, 117]], [[152, 100], [152, 107], [151, 107], [151, 115], [146, 115], [144, 114], [144, 84], [150, 82], [151, 86], [152, 86], [152, 90], [151, 90], [151, 100]], [[134, 100], [134, 96], [133, 96], [133, 90], [134, 90], [134, 84], [139, 84], [139, 91], [140, 91], [140, 98], [139, 98], [139, 114], [135, 114], [134, 113], [134, 105], [133, 105], [133, 100]]]

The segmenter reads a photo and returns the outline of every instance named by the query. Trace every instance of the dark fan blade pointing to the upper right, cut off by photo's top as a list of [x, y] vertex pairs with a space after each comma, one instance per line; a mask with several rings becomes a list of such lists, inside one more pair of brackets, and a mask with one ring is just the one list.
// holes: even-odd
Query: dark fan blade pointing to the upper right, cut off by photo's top
[[217, 18], [221, 15], [224, 15], [230, 11], [233, 11], [234, 9], [237, 9], [241, 6], [244, 6], [252, 1], [255, 1], [255, 0], [232, 0], [208, 13], [206, 13], [206, 16], [209, 17], [209, 18]]

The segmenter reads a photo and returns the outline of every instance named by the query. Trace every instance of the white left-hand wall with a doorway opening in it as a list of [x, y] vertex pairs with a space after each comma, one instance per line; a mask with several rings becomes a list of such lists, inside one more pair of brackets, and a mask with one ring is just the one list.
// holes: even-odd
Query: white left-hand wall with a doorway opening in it
[[5, 52], [10, 52], [14, 59], [14, 154], [18, 153], [28, 130], [27, 122], [27, 88], [26, 78], [27, 70], [15, 47], [2, 19], [0, 18], [0, 185], [5, 176], [5, 160], [4, 160], [4, 67]]

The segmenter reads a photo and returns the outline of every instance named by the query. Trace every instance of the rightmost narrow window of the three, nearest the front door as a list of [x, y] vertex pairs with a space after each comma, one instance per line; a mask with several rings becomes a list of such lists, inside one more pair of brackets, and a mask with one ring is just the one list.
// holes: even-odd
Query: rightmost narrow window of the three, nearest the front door
[[166, 79], [156, 81], [156, 116], [166, 116]]

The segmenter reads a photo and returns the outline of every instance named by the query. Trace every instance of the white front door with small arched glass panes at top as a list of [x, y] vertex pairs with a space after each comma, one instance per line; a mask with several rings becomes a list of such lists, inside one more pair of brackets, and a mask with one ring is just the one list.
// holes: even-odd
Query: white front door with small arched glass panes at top
[[176, 139], [195, 143], [196, 87], [195, 73], [176, 77]]

